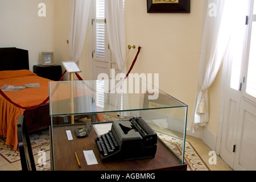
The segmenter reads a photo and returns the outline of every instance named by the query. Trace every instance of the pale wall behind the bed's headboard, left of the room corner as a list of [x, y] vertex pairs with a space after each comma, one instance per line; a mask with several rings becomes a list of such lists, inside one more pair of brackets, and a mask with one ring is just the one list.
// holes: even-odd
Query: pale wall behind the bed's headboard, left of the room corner
[[[39, 17], [39, 3], [46, 17]], [[27, 49], [30, 70], [41, 64], [41, 52], [54, 52], [54, 1], [0, 0], [0, 47]]]

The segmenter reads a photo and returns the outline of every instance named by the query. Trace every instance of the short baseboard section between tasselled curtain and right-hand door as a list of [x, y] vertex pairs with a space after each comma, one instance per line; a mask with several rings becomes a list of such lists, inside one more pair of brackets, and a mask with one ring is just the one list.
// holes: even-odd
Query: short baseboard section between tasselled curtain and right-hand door
[[217, 137], [206, 127], [203, 127], [201, 139], [208, 147], [210, 147], [210, 149], [216, 151]]

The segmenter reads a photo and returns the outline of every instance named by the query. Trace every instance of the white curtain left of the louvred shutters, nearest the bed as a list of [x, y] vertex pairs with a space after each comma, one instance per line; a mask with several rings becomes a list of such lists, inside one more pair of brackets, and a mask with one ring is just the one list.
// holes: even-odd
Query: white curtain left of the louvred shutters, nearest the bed
[[72, 61], [79, 61], [84, 47], [90, 4], [92, 0], [70, 1], [69, 55]]

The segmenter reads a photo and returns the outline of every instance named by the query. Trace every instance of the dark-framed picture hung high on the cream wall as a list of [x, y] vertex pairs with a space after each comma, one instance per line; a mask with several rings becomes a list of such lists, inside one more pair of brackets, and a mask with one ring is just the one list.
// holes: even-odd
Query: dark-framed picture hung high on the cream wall
[[190, 13], [190, 0], [147, 0], [147, 13]]

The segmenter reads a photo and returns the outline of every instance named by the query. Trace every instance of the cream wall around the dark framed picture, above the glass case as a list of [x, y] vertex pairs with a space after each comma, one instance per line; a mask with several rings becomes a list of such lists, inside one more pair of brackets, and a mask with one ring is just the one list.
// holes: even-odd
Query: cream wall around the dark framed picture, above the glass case
[[[204, 0], [191, 1], [189, 14], [149, 14], [147, 1], [126, 1], [126, 44], [141, 46], [133, 73], [159, 73], [159, 88], [188, 105], [197, 90]], [[130, 67], [137, 49], [130, 53]]]

